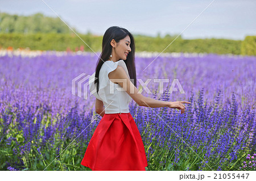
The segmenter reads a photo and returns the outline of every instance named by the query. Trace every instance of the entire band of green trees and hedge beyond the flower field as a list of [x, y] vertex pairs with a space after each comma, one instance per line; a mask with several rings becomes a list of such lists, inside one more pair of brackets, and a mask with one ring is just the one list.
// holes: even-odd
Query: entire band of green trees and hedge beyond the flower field
[[[75, 32], [77, 30], [72, 28]], [[0, 13], [0, 47], [30, 48], [31, 50], [77, 50], [84, 46], [86, 52], [99, 52], [102, 49], [102, 36], [91, 32], [81, 39], [59, 18], [34, 14], [30, 16]], [[156, 37], [134, 35], [136, 52], [183, 52], [256, 55], [256, 37], [246, 36], [244, 41], [227, 39], [184, 40], [181, 36]], [[84, 42], [83, 42], [84, 41]]]

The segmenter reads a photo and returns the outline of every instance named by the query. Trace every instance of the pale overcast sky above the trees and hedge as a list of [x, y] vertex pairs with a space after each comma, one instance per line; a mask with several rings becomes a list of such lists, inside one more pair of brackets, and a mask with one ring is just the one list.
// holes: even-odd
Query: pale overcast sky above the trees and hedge
[[243, 40], [246, 35], [256, 35], [256, 0], [216, 0], [199, 15], [212, 1], [0, 0], [0, 11], [18, 15], [37, 12], [59, 15], [79, 32], [89, 30], [97, 35], [103, 35], [110, 26], [149, 36], [156, 36], [158, 32], [161, 36], [179, 35], [184, 31], [181, 34], [184, 39]]

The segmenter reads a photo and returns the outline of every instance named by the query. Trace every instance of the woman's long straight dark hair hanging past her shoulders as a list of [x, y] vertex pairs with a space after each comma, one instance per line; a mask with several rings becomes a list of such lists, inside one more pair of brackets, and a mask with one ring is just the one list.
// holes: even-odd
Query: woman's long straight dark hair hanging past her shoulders
[[[135, 68], [135, 43], [134, 43], [134, 38], [131, 33], [126, 30], [125, 28], [120, 28], [117, 26], [113, 26], [108, 28], [106, 32], [104, 33], [103, 40], [102, 40], [102, 52], [100, 55], [100, 58], [98, 58], [97, 61], [97, 66], [96, 66], [96, 71], [95, 71], [95, 77], [97, 79], [94, 81], [94, 83], [97, 83], [97, 93], [99, 89], [99, 80], [98, 80], [98, 75], [100, 74], [100, 69], [101, 66], [104, 64], [105, 61], [107, 61], [110, 57], [110, 54], [112, 53], [112, 45], [110, 45], [110, 42], [112, 39], [115, 40], [115, 42], [119, 42], [119, 40], [124, 39], [127, 35], [130, 36], [131, 42], [130, 42], [130, 47], [131, 47], [131, 52], [129, 52], [126, 60], [124, 61], [127, 69], [129, 71], [129, 76], [131, 79], [131, 82], [133, 82], [134, 86], [137, 87], [137, 77], [136, 77], [136, 68]], [[103, 60], [103, 61], [102, 61]]]

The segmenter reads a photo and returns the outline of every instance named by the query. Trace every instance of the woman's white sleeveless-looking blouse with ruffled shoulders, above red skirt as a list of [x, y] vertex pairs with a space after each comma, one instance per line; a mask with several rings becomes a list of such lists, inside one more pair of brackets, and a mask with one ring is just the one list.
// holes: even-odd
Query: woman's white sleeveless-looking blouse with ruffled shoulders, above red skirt
[[[93, 94], [97, 99], [102, 100], [105, 113], [128, 113], [129, 103], [131, 97], [127, 92], [117, 83], [113, 83], [109, 79], [109, 73], [122, 66], [125, 69], [127, 76], [130, 79], [129, 72], [123, 60], [117, 62], [105, 61], [101, 66], [99, 73], [100, 87], [97, 94], [96, 84], [94, 84], [95, 72], [89, 77], [90, 94]], [[118, 82], [118, 81], [117, 81]], [[121, 82], [121, 81], [120, 81]]]

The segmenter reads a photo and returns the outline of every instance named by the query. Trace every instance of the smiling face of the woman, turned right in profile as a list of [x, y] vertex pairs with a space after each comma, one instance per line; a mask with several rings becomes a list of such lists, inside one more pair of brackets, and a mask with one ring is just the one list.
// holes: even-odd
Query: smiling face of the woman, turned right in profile
[[127, 54], [131, 52], [130, 43], [131, 40], [129, 35], [117, 43], [117, 47], [115, 48], [117, 58], [126, 60]]

